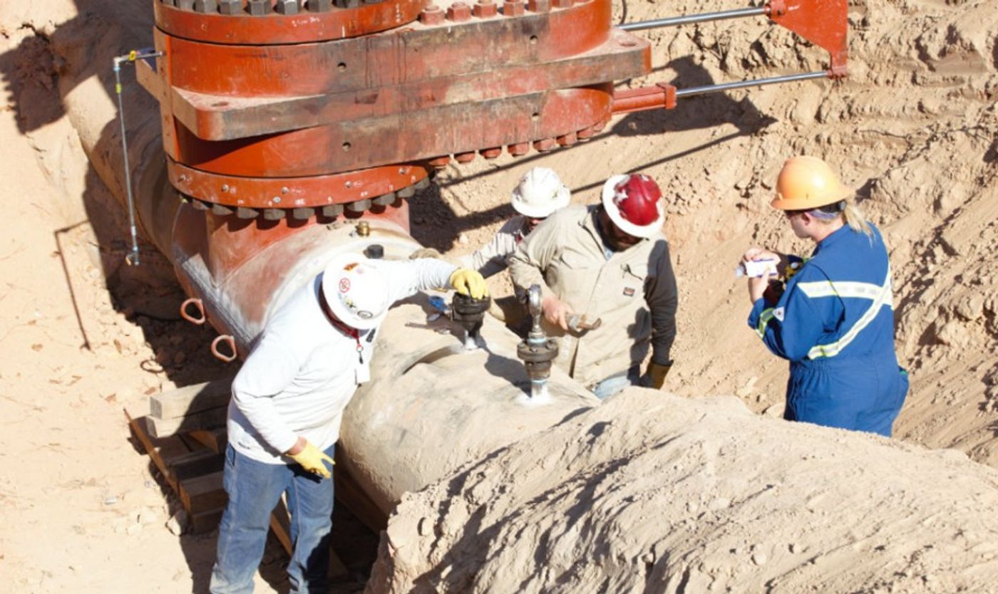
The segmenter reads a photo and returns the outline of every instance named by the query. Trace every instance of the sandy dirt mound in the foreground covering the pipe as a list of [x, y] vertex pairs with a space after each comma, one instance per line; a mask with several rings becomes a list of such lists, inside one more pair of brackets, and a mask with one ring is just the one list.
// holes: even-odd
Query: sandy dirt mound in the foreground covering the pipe
[[994, 592], [996, 504], [956, 451], [630, 389], [406, 495], [366, 591]]

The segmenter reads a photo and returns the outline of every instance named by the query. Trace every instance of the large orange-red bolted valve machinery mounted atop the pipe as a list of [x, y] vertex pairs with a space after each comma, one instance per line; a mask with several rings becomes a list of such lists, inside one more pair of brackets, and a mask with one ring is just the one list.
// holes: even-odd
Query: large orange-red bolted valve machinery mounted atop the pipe
[[[845, 72], [845, 0], [618, 27], [611, 0], [432, 1], [156, 3], [162, 55], [140, 62], [139, 78], [161, 106], [176, 192], [139, 213], [192, 297], [185, 316], [224, 333], [232, 352], [218, 355], [245, 352], [272, 297], [298, 278], [295, 260], [321, 243], [305, 235], [357, 218], [406, 234], [407, 199], [452, 158], [571, 147], [615, 114]], [[632, 31], [753, 16], [826, 49], [828, 68], [615, 92], [651, 72], [651, 48]]]

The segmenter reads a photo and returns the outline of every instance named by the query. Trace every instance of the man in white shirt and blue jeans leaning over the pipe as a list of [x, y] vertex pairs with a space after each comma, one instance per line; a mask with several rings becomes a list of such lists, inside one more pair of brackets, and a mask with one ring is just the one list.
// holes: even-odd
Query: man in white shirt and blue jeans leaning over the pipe
[[267, 321], [233, 382], [215, 594], [252, 591], [270, 512], [286, 494], [294, 550], [290, 591], [326, 592], [333, 448], [343, 409], [367, 381], [388, 308], [417, 290], [481, 298], [476, 271], [440, 260], [334, 257]]

